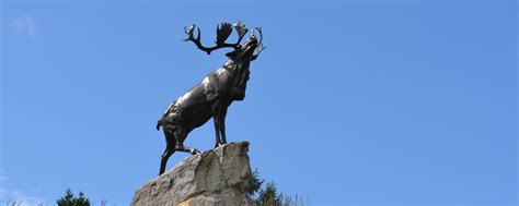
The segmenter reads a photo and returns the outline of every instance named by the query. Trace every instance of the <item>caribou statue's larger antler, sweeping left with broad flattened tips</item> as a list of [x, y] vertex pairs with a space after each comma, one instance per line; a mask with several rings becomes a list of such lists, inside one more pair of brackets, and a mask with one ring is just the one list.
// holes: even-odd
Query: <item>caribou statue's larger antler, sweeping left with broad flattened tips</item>
[[[195, 27], [196, 27], [196, 24], [193, 24], [192, 26], [189, 26], [189, 28], [184, 27], [185, 33], [187, 34], [187, 38], [184, 39], [184, 41], [191, 40], [195, 43], [196, 47], [198, 47], [198, 49], [203, 51], [206, 51], [207, 54], [210, 54], [211, 51], [214, 50], [224, 48], [224, 47], [237, 48], [240, 45], [240, 41], [242, 40], [243, 36], [245, 36], [247, 32], [245, 25], [243, 25], [241, 22], [238, 22], [237, 24], [232, 26], [229, 23], [221, 23], [220, 25], [217, 26], [217, 40], [215, 40], [216, 46], [207, 48], [207, 47], [204, 47], [200, 43], [200, 28], [199, 27], [197, 27], [198, 29], [197, 37], [196, 38], [194, 37], [193, 33], [195, 31]], [[234, 29], [237, 29], [238, 32], [238, 41], [235, 44], [228, 44], [226, 43], [226, 40], [231, 35], [232, 27], [234, 27]]]

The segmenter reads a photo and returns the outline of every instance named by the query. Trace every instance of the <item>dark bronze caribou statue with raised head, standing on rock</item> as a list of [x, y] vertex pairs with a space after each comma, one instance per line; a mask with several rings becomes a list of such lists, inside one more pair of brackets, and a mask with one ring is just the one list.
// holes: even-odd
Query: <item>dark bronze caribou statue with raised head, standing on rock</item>
[[[191, 153], [196, 155], [200, 153], [198, 149], [184, 146], [184, 141], [194, 129], [203, 125], [209, 119], [214, 119], [216, 144], [218, 147], [227, 144], [226, 138], [226, 114], [229, 106], [234, 100], [243, 100], [245, 98], [246, 82], [249, 81], [249, 66], [251, 61], [257, 59], [260, 52], [265, 49], [262, 44], [262, 29], [255, 29], [260, 34], [260, 39], [251, 35], [244, 44], [240, 44], [249, 32], [240, 22], [231, 25], [221, 23], [217, 27], [217, 39], [214, 47], [204, 47], [200, 43], [200, 28], [197, 28], [197, 37], [194, 37], [196, 25], [185, 28], [187, 38], [185, 41], [193, 41], [196, 47], [207, 54], [220, 48], [232, 48], [228, 52], [228, 61], [218, 70], [209, 73], [201, 83], [197, 84], [176, 100], [174, 100], [162, 117], [157, 122], [157, 130], [162, 126], [165, 135], [165, 150], [162, 154], [159, 175], [164, 173], [168, 159], [176, 150]], [[238, 41], [235, 44], [226, 43], [234, 28], [238, 33]]]

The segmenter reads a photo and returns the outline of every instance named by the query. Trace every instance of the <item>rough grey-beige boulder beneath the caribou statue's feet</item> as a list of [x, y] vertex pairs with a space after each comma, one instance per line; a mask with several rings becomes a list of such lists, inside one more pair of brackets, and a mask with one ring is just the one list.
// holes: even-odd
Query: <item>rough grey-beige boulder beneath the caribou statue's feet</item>
[[243, 192], [251, 177], [249, 143], [230, 143], [191, 156], [145, 183], [132, 206], [254, 205]]

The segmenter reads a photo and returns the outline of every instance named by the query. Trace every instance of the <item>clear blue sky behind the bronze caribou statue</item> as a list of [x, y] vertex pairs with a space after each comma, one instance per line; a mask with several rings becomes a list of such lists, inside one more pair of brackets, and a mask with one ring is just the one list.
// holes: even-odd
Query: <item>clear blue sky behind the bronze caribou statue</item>
[[[164, 149], [155, 122], [224, 61], [197, 23], [262, 26], [229, 141], [312, 205], [515, 205], [515, 1], [2, 1], [0, 204], [67, 187], [128, 205]], [[209, 123], [186, 145], [209, 149]], [[175, 154], [169, 168], [187, 154]]]

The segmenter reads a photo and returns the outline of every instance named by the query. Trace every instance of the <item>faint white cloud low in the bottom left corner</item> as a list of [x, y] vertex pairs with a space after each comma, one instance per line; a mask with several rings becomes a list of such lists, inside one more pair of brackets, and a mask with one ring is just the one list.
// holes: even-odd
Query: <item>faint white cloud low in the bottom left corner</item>
[[26, 194], [20, 190], [12, 190], [7, 186], [8, 178], [0, 175], [0, 205], [12, 205], [16, 203], [16, 206], [39, 206], [46, 205], [45, 199]]

